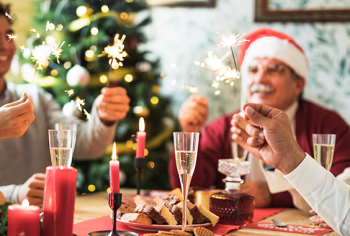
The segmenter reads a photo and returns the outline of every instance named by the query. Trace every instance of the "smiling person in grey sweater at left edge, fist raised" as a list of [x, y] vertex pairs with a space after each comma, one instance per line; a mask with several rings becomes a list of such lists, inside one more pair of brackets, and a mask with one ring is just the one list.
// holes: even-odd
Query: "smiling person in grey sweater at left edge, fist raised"
[[[19, 135], [8, 136], [25, 133], [21, 137], [0, 140], [0, 191], [4, 193], [6, 201], [21, 202], [28, 198], [30, 204], [41, 205], [45, 174], [40, 172], [45, 172], [45, 168], [51, 165], [47, 130], [54, 128], [55, 123], [78, 124], [74, 158], [97, 158], [112, 143], [117, 121], [126, 116], [130, 99], [123, 88], [103, 88], [93, 104], [91, 120], [83, 122], [75, 117], [65, 117], [52, 96], [38, 86], [7, 83], [5, 74], [10, 68], [16, 46], [13, 40], [8, 39], [7, 35], [13, 33], [12, 22], [5, 13], [9, 14], [9, 7], [0, 3], [0, 107], [8, 111], [7, 115], [14, 121], [17, 111], [8, 109], [13, 105], [11, 103], [19, 100], [30, 104], [26, 119], [16, 119], [18, 122], [15, 126], [24, 128], [19, 130]], [[25, 99], [25, 95], [22, 101], [23, 93], [27, 93], [30, 99]]]

